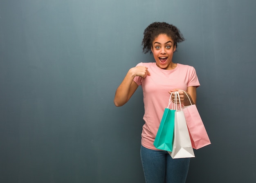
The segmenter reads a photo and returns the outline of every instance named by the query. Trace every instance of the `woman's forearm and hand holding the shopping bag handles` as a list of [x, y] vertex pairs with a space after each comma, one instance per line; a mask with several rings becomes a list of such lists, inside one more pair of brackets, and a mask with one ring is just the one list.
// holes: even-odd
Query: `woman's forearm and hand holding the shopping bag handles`
[[[175, 92], [178, 90], [179, 89], [173, 89], [173, 90], [169, 91], [169, 93], [171, 94], [172, 92]], [[189, 95], [191, 103], [196, 104], [196, 86], [189, 86], [186, 90], [186, 93]], [[183, 91], [179, 91], [179, 94], [180, 94], [180, 101], [182, 104], [184, 104], [184, 106], [191, 105], [188, 97], [186, 96], [186, 94]], [[174, 95], [172, 96], [172, 101], [174, 102]]]

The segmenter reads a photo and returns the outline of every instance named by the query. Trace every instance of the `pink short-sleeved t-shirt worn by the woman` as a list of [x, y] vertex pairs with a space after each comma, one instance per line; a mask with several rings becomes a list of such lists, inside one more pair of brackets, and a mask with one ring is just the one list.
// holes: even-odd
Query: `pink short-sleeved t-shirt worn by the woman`
[[137, 85], [141, 85], [144, 96], [144, 121], [141, 133], [141, 145], [145, 148], [157, 150], [153, 145], [157, 130], [168, 106], [171, 89], [187, 90], [189, 86], [200, 86], [195, 68], [188, 65], [177, 64], [173, 70], [159, 68], [155, 62], [139, 63], [137, 66], [146, 66], [150, 76], [135, 77]]

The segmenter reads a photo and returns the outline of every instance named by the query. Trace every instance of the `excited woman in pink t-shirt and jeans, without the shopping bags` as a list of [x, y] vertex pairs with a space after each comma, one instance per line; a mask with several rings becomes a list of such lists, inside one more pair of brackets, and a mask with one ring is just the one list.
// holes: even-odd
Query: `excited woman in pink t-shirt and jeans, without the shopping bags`
[[[138, 86], [142, 87], [145, 124], [141, 133], [141, 163], [146, 183], [185, 183], [189, 170], [189, 158], [172, 159], [168, 152], [153, 145], [171, 92], [182, 89], [193, 104], [196, 102], [196, 88], [200, 84], [195, 69], [173, 62], [177, 43], [182, 41], [184, 38], [176, 26], [165, 22], [150, 24], [144, 31], [142, 45], [144, 53], [153, 53], [155, 62], [130, 68], [115, 94], [115, 105], [123, 106]], [[179, 94], [180, 102], [190, 105], [186, 94], [183, 91]]]

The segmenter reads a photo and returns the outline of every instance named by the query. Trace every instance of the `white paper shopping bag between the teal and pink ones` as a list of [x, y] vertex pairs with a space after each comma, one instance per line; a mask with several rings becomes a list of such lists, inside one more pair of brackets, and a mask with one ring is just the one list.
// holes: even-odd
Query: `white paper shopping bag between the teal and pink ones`
[[[175, 95], [177, 95], [177, 97], [180, 99], [180, 95], [178, 92], [175, 92]], [[180, 109], [182, 109], [181, 104], [180, 104]], [[184, 112], [182, 110], [177, 110], [177, 103], [176, 103], [174, 122], [175, 123], [174, 123], [173, 151], [168, 153], [171, 155], [173, 159], [195, 157], [191, 140], [189, 137], [189, 130], [186, 125]]]

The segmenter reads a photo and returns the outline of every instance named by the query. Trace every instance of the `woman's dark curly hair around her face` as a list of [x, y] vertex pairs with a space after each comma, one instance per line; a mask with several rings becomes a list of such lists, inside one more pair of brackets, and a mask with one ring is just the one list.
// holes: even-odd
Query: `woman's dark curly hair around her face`
[[177, 43], [184, 41], [184, 37], [180, 30], [173, 24], [166, 22], [154, 22], [150, 24], [144, 31], [144, 38], [141, 45], [143, 46], [143, 52], [146, 54], [151, 52], [152, 43], [159, 34], [166, 34], [174, 41], [174, 45], [177, 48]]

